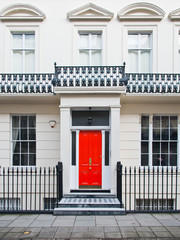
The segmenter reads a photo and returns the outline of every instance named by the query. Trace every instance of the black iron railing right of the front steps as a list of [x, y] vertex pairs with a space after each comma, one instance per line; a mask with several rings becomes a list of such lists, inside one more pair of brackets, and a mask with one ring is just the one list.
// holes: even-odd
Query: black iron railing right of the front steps
[[117, 197], [126, 212], [180, 211], [178, 167], [130, 167], [117, 163]]

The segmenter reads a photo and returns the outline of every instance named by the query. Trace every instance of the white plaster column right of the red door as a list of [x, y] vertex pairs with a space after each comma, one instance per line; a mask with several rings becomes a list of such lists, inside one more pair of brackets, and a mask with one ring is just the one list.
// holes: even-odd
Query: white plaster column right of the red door
[[111, 192], [116, 194], [116, 165], [120, 160], [120, 108], [121, 105], [110, 106], [111, 109]]

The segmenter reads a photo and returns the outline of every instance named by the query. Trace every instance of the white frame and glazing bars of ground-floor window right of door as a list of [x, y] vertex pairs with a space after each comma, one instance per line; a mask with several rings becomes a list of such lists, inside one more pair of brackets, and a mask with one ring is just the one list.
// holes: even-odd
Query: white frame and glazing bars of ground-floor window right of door
[[[180, 166], [179, 164], [179, 133], [180, 133], [180, 124], [179, 124], [179, 115], [178, 114], [153, 114], [153, 115], [148, 115], [148, 114], [142, 114], [140, 117], [141, 117], [141, 121], [140, 121], [140, 134], [142, 136], [142, 117], [143, 116], [147, 116], [149, 117], [149, 139], [147, 140], [148, 142], [148, 148], [149, 148], [149, 151], [148, 151], [148, 155], [149, 155], [149, 158], [148, 158], [148, 165], [142, 165], [141, 163], [141, 155], [142, 155], [142, 148], [141, 148], [141, 143], [145, 140], [142, 140], [142, 137], [140, 137], [140, 166], [141, 167], [178, 167]], [[172, 166], [172, 165], [153, 165], [153, 142], [157, 142], [156, 140], [153, 139], [153, 117], [160, 117], [160, 119], [162, 117], [168, 117], [168, 119], [170, 119], [171, 117], [177, 117], [177, 140], [162, 140], [160, 139], [159, 142], [160, 144], [164, 141], [168, 142], [168, 145], [171, 143], [171, 142], [177, 142], [177, 165], [176, 166]], [[161, 128], [160, 128], [161, 129]], [[170, 131], [170, 125], [168, 127], [168, 131]], [[169, 155], [170, 151], [168, 149], [168, 155]], [[168, 159], [169, 159], [169, 156], [168, 156]]]

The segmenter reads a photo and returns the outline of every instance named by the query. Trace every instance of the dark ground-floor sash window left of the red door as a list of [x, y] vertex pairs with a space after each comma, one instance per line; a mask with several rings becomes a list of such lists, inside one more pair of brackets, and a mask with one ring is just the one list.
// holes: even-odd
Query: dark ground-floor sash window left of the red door
[[12, 116], [12, 164], [36, 165], [35, 116]]

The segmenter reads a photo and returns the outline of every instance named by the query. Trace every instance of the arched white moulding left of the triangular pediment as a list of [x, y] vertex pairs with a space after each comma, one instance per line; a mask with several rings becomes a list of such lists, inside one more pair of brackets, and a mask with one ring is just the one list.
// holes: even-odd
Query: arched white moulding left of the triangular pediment
[[43, 21], [45, 14], [29, 4], [13, 4], [0, 11], [0, 20], [15, 21], [15, 20], [33, 20]]

